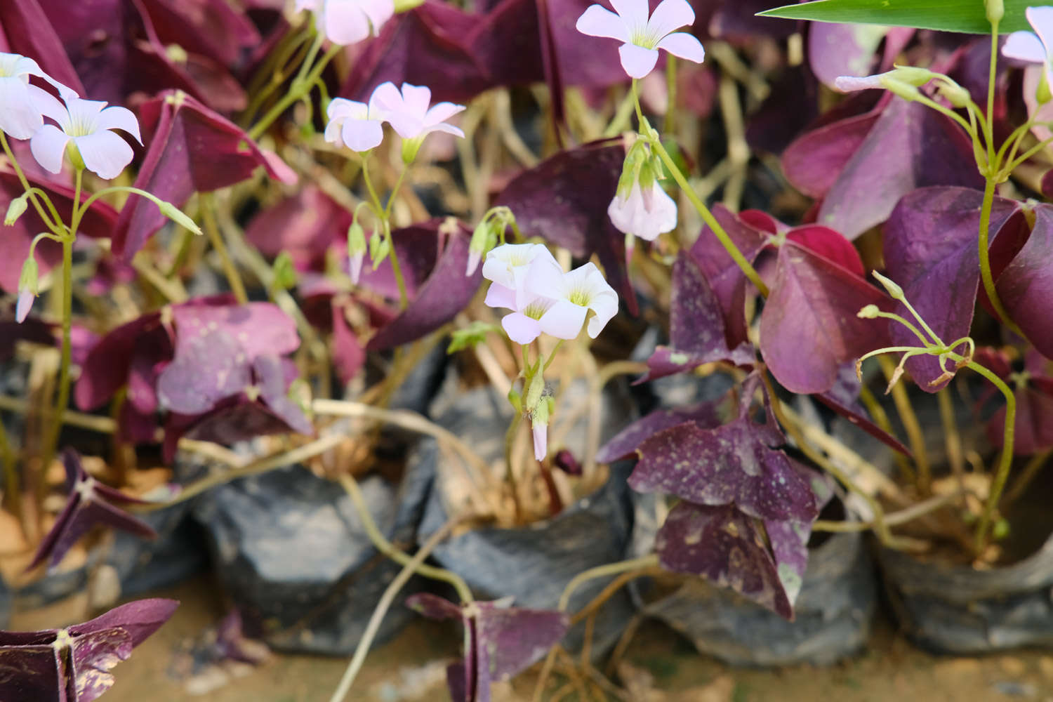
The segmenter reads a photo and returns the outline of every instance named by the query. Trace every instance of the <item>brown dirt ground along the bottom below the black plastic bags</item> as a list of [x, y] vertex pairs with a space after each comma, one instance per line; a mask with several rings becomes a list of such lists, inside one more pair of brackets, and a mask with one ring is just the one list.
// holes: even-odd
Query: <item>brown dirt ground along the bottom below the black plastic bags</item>
[[[117, 684], [105, 702], [325, 702], [346, 666], [346, 659], [276, 655], [258, 667], [233, 665], [194, 675], [187, 650], [222, 616], [219, 598], [205, 577], [157, 595], [182, 605], [115, 669]], [[13, 628], [38, 623], [40, 614], [18, 617]], [[445, 665], [459, 640], [454, 625], [419, 621], [370, 654], [347, 699], [444, 702]], [[623, 682], [631, 693], [621, 699], [631, 702], [1053, 702], [1053, 651], [935, 657], [912, 646], [883, 618], [866, 651], [829, 668], [728, 668], [658, 624], [641, 627], [624, 660]], [[495, 690], [495, 702], [530, 700], [536, 674], [528, 671], [510, 688]], [[552, 699], [582, 699], [565, 679], [557, 678], [549, 689], [558, 691]]]

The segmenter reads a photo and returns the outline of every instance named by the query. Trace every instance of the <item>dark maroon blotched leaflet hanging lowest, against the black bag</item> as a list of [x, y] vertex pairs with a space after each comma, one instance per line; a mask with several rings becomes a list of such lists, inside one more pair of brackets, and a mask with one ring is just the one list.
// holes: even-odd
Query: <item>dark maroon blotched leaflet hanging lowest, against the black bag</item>
[[702, 576], [793, 619], [763, 533], [735, 505], [678, 503], [658, 529], [655, 550], [664, 568]]

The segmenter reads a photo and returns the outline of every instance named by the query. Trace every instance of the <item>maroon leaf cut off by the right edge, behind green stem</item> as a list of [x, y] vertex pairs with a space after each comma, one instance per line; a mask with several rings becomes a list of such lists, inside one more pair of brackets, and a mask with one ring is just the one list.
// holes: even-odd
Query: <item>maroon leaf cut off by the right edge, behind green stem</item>
[[[1035, 207], [1035, 224], [1024, 248], [997, 278], [1006, 312], [1047, 358], [1053, 358], [1053, 206]], [[993, 267], [993, 264], [992, 264]]]

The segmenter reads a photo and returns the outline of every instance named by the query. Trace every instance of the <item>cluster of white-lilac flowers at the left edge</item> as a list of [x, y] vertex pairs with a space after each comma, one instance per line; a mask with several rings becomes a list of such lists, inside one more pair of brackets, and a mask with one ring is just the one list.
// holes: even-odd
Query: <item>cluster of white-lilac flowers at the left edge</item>
[[[54, 85], [62, 100], [31, 84], [29, 76]], [[45, 117], [58, 126], [45, 123]], [[119, 176], [133, 156], [127, 142], [111, 129], [123, 129], [142, 143], [139, 122], [130, 109], [82, 100], [36, 61], [18, 54], [0, 54], [0, 129], [15, 139], [29, 139], [33, 157], [51, 173], [62, 169], [68, 153], [77, 167], [106, 180]]]

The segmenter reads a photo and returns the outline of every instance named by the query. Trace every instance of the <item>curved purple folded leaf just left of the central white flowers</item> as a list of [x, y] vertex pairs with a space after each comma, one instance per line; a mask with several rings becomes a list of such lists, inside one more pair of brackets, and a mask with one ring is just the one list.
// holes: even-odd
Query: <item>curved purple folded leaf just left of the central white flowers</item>
[[[445, 226], [444, 223], [434, 223], [431, 226], [423, 224], [408, 228], [435, 232], [437, 227]], [[477, 269], [471, 276], [464, 275], [472, 233], [460, 222], [456, 226], [456, 230], [449, 235], [445, 249], [436, 262], [432, 275], [420, 286], [409, 306], [370, 340], [366, 344], [369, 350], [400, 346], [420, 339], [452, 320], [471, 302], [482, 281], [482, 269]], [[397, 238], [400, 232], [393, 232], [392, 238]]]

